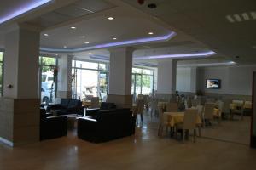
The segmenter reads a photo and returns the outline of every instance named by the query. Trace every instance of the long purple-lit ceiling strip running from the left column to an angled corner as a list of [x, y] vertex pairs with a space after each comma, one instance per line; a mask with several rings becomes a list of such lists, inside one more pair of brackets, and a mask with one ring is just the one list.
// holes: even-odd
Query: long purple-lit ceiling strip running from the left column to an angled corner
[[128, 41], [124, 41], [124, 42], [110, 42], [110, 43], [104, 43], [104, 44], [99, 44], [99, 45], [84, 47], [84, 48], [74, 48], [74, 49], [72, 49], [72, 48], [69, 48], [69, 49], [40, 48], [40, 50], [46, 51], [46, 52], [81, 52], [81, 51], [97, 49], [97, 48], [111, 48], [111, 47], [125, 46], [125, 45], [131, 45], [131, 44], [134, 45], [134, 44], [143, 43], [143, 42], [164, 41], [164, 40], [169, 40], [176, 35], [177, 35], [177, 33], [172, 31], [170, 34], [167, 34], [166, 36], [146, 37], [146, 38], [141, 38], [141, 39], [128, 40]]

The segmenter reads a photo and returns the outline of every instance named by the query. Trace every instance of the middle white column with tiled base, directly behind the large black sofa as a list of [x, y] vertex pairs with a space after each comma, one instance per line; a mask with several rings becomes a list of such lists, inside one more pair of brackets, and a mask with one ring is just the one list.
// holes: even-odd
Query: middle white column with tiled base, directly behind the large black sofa
[[134, 48], [110, 50], [108, 102], [118, 107], [131, 107], [131, 69]]

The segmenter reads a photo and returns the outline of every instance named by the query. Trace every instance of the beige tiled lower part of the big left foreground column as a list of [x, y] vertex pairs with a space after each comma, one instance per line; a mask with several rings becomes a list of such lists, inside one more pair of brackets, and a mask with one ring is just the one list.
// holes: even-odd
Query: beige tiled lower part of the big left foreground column
[[39, 141], [39, 99], [1, 98], [0, 115], [3, 139], [14, 146]]

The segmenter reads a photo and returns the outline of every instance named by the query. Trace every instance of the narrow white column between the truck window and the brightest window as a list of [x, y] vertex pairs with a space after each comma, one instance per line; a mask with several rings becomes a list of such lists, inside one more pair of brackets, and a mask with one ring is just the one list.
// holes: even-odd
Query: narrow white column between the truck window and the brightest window
[[58, 98], [72, 98], [72, 59], [73, 55], [62, 55], [58, 59]]

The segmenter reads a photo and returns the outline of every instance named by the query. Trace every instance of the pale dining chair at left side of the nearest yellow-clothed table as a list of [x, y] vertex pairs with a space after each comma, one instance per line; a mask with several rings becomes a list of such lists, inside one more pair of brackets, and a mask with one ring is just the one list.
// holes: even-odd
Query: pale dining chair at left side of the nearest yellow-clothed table
[[159, 113], [159, 127], [158, 127], [158, 136], [161, 137], [163, 134], [164, 127], [166, 127], [166, 132], [168, 132], [168, 127], [170, 127], [168, 122], [168, 116], [164, 115], [163, 108], [158, 106]]

